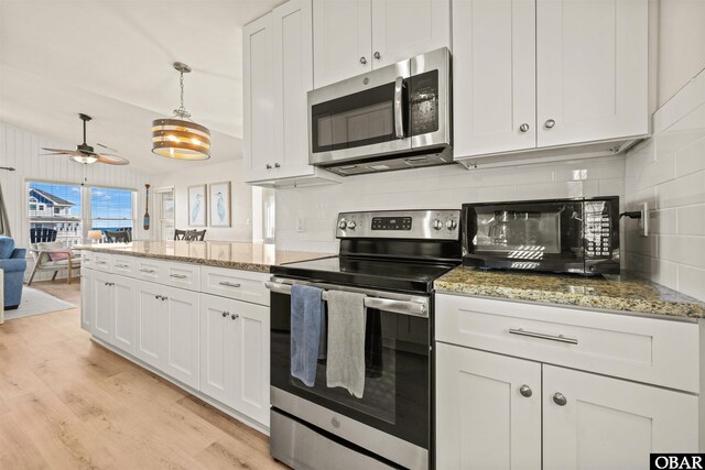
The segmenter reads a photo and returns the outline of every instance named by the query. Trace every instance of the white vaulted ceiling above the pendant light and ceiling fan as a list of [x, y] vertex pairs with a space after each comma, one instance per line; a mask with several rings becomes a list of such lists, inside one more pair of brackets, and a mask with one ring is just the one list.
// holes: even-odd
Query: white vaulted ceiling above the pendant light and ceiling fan
[[204, 163], [151, 153], [151, 121], [185, 107], [212, 131], [212, 160], [241, 156], [242, 25], [278, 0], [0, 0], [0, 121], [73, 147], [117, 149], [147, 174]]

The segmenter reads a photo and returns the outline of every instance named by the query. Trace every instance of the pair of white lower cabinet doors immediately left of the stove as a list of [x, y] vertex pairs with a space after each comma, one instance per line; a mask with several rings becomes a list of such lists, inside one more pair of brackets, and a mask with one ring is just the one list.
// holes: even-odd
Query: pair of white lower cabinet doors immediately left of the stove
[[269, 309], [200, 294], [200, 391], [269, 426]]

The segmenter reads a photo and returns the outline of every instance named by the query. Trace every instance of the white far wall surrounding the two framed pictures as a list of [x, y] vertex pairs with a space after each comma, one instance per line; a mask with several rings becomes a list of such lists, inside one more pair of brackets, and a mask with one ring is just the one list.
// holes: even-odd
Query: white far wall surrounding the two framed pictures
[[[206, 240], [252, 240], [252, 188], [239, 178], [241, 162], [203, 165], [152, 177], [153, 188], [174, 187], [176, 228], [188, 228], [188, 186], [230, 182], [232, 223], [230, 228], [206, 227]], [[208, 209], [210, 210], [210, 209]], [[156, 217], [158, 215], [153, 215]], [[208, 222], [209, 223], [209, 222]], [[198, 230], [202, 230], [200, 228]]]

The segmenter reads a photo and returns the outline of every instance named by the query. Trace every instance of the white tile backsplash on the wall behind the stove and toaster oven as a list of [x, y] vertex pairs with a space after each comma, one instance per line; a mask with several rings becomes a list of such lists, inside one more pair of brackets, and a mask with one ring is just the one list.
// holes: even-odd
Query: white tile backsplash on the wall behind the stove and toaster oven
[[[459, 165], [351, 176], [343, 184], [276, 189], [276, 245], [337, 251], [337, 214], [377, 209], [459, 209], [463, 203], [578, 196], [623, 196], [623, 156], [521, 167]], [[304, 232], [296, 219], [304, 218]]]

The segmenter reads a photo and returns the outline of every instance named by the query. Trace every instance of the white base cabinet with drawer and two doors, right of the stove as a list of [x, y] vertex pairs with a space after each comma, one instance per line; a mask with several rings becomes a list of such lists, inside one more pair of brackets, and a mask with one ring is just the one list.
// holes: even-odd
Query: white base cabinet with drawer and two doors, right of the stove
[[699, 386], [685, 391], [699, 325], [436, 300], [437, 468], [648, 468], [650, 452], [702, 451]]

